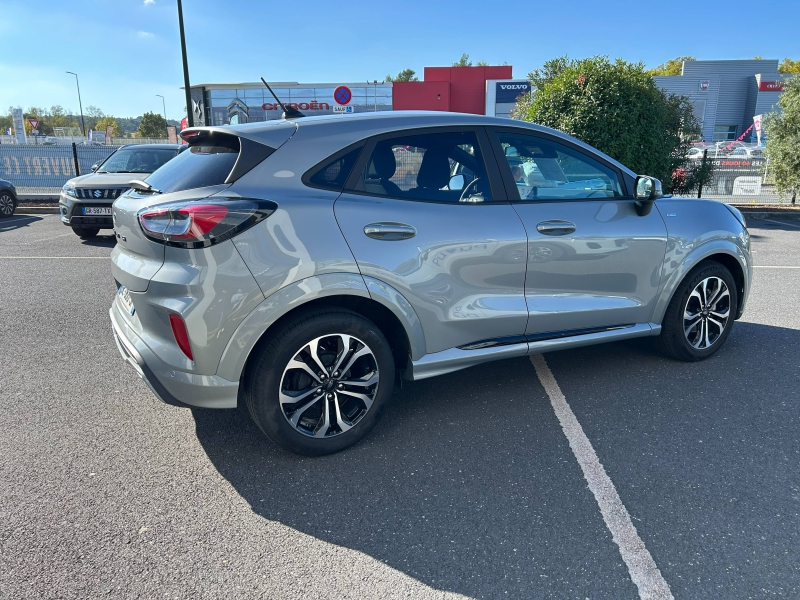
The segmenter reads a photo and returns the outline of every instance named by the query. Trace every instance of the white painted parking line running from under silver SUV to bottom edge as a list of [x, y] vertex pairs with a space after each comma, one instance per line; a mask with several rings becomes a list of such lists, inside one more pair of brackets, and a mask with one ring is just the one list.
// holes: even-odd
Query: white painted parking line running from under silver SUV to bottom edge
[[550, 367], [547, 366], [544, 356], [541, 354], [531, 356], [531, 363], [536, 369], [536, 375], [538, 375], [542, 387], [550, 398], [550, 404], [567, 437], [569, 447], [581, 466], [589, 490], [600, 507], [603, 521], [619, 548], [622, 560], [628, 567], [631, 580], [639, 590], [639, 598], [642, 600], [672, 599], [669, 585], [639, 537], [614, 483], [600, 463], [592, 443], [583, 432], [583, 427], [567, 403], [567, 399], [561, 392]]

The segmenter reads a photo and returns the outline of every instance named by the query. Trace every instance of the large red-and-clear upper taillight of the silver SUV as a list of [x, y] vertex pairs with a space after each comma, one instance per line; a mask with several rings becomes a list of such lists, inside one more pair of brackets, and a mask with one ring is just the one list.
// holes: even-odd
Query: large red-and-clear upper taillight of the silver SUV
[[151, 240], [180, 248], [218, 244], [266, 219], [278, 207], [269, 200], [184, 200], [139, 211], [139, 224]]

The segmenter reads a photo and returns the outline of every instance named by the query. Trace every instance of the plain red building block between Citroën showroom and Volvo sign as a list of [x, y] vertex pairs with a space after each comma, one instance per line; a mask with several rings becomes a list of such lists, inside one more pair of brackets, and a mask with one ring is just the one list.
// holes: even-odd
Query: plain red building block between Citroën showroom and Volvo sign
[[425, 67], [425, 81], [397, 82], [394, 110], [486, 114], [486, 80], [511, 79], [511, 67]]

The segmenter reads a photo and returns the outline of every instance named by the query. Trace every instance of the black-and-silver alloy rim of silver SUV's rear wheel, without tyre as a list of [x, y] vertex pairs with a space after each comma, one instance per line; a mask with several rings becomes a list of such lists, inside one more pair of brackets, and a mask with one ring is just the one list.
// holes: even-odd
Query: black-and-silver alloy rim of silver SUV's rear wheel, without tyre
[[378, 392], [378, 362], [344, 333], [315, 338], [294, 353], [281, 376], [281, 411], [299, 433], [329, 438], [355, 427]]

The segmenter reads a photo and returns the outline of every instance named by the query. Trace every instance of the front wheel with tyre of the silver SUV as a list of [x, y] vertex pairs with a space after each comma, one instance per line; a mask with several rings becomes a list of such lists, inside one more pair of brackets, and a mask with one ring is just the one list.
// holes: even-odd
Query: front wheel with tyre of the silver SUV
[[728, 338], [738, 310], [731, 272], [714, 261], [691, 271], [667, 307], [656, 345], [667, 356], [686, 362], [704, 360]]

